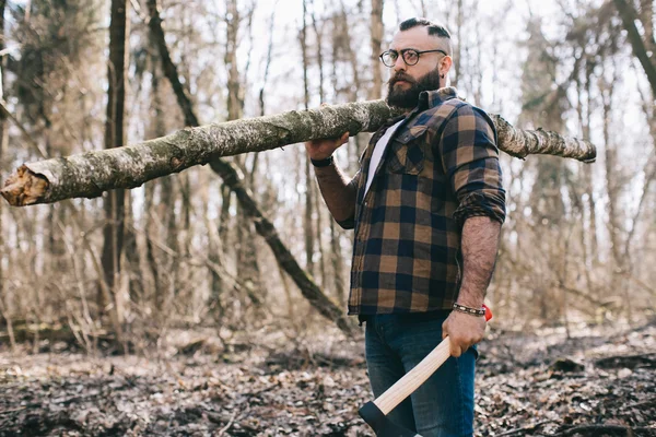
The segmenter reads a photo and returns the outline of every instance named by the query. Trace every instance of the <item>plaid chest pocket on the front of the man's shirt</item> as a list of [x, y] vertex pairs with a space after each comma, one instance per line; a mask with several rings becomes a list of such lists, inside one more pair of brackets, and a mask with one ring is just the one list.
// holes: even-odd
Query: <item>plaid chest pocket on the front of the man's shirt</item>
[[389, 144], [387, 169], [390, 173], [419, 175], [425, 162], [426, 127], [414, 127], [396, 137]]

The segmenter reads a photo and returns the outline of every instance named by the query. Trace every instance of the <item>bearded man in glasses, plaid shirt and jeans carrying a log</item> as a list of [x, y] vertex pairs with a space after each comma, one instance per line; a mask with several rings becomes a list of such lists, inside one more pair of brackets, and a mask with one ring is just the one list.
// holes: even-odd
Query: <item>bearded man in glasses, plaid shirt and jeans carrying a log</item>
[[366, 323], [374, 395], [448, 335], [452, 356], [388, 417], [423, 437], [471, 436], [476, 343], [505, 218], [496, 132], [446, 86], [443, 26], [402, 22], [380, 60], [387, 103], [406, 113], [372, 137], [355, 177], [332, 158], [348, 132], [305, 146], [332, 216], [355, 229], [349, 314]]

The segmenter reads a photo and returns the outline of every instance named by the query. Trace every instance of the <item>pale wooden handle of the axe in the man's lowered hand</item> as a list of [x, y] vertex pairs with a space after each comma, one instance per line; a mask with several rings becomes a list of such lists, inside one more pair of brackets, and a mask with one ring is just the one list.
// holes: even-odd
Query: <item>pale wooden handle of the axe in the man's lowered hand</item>
[[[492, 318], [492, 311], [485, 307], [485, 320]], [[425, 358], [423, 358], [412, 370], [408, 371], [401, 379], [395, 382], [394, 386], [387, 389], [374, 401], [376, 406], [387, 415], [394, 410], [403, 399], [419, 388], [431, 375], [444, 364], [450, 355], [450, 342], [448, 336], [433, 350]]]

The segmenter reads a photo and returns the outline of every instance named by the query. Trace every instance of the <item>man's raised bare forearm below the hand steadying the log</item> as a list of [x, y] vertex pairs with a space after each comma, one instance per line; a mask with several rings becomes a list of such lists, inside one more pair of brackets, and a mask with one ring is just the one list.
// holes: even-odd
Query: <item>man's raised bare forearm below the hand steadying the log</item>
[[355, 184], [349, 180], [333, 161], [326, 167], [315, 167], [321, 196], [338, 222], [351, 218], [355, 211]]

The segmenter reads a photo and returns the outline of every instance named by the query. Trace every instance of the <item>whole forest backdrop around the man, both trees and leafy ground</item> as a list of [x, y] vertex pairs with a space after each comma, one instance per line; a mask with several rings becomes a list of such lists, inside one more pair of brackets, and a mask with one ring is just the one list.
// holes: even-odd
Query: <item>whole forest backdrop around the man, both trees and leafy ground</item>
[[[380, 98], [398, 23], [442, 22], [460, 95], [598, 152], [502, 153], [478, 433], [655, 436], [654, 13], [653, 0], [0, 0], [0, 175]], [[349, 174], [367, 140], [337, 152]], [[372, 435], [356, 414], [371, 400], [362, 334], [336, 323], [352, 233], [302, 144], [226, 161], [280, 240], [214, 165], [92, 200], [0, 202], [0, 437]], [[328, 317], [306, 297], [321, 292]]]

